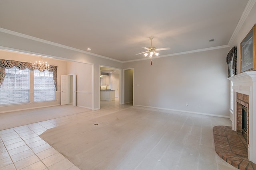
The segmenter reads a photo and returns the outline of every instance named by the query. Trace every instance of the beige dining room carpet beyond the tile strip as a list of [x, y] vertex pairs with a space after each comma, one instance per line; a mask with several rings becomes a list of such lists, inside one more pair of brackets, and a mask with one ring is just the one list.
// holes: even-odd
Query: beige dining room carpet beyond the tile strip
[[86, 111], [90, 111], [90, 109], [74, 107], [72, 105], [62, 105], [0, 113], [0, 130], [28, 125], [31, 123], [37, 123], [40, 121], [46, 121]]

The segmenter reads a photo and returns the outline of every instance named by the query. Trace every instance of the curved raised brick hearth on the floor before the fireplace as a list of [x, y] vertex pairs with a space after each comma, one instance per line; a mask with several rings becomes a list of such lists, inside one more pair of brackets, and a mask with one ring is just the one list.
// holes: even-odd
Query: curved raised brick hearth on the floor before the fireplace
[[216, 153], [240, 170], [256, 170], [256, 164], [248, 160], [246, 141], [233, 131], [230, 126], [215, 126], [213, 128]]

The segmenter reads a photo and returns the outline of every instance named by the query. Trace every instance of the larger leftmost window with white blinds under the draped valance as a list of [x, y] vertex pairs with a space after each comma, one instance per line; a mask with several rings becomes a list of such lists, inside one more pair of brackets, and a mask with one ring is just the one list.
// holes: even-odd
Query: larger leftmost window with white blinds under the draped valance
[[15, 66], [5, 68], [5, 78], [0, 87], [0, 105], [29, 102], [29, 70]]

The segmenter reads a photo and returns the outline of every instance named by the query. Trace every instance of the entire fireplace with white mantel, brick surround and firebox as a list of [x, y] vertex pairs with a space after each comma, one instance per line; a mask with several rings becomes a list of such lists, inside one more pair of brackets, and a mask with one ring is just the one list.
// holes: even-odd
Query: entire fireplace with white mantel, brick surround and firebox
[[[243, 72], [228, 79], [233, 82], [232, 130], [244, 133], [248, 159], [256, 163], [256, 71]], [[245, 120], [242, 120], [243, 114]]]

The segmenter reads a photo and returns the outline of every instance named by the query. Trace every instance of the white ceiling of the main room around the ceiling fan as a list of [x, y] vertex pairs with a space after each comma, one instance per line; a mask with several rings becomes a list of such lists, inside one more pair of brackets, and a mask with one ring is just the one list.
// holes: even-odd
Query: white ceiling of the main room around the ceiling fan
[[[248, 0], [0, 0], [0, 27], [118, 61], [228, 45]], [[209, 42], [214, 39], [213, 42]]]

